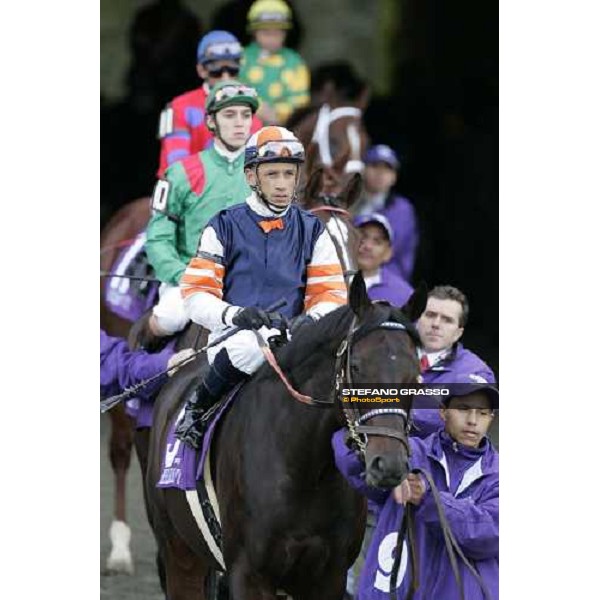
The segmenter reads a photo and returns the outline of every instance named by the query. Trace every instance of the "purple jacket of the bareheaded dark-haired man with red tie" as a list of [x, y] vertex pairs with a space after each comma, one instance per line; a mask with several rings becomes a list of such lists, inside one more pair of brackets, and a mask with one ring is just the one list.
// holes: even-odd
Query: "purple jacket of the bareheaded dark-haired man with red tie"
[[[493, 371], [462, 344], [455, 344], [450, 354], [424, 373], [423, 383], [454, 383], [457, 377], [478, 375], [489, 383], [496, 383]], [[444, 427], [437, 408], [419, 408], [419, 398], [413, 404], [412, 418], [416, 428], [411, 435], [426, 438]]]

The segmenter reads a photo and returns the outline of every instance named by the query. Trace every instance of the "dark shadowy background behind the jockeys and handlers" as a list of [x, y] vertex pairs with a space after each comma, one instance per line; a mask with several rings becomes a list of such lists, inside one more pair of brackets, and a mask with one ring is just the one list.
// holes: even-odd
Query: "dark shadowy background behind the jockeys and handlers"
[[[250, 4], [225, 2], [202, 19], [175, 0], [138, 11], [129, 32], [126, 96], [101, 98], [102, 224], [151, 192], [158, 114], [198, 85], [199, 36], [219, 27], [246, 41]], [[498, 372], [498, 4], [398, 5], [402, 10], [382, 29], [389, 36], [389, 93], [373, 94], [366, 127], [374, 143], [389, 144], [402, 158], [396, 187], [413, 202], [421, 226], [413, 283], [449, 283], [467, 294], [471, 320], [463, 341]], [[294, 47], [310, 38], [306, 23], [296, 21]]]

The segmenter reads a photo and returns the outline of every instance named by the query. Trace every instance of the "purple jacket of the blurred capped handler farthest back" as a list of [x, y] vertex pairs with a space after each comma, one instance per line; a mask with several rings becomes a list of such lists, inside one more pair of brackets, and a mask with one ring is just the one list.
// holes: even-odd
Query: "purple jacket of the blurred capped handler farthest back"
[[419, 245], [419, 227], [415, 209], [410, 200], [404, 196], [389, 194], [383, 210], [394, 230], [394, 255], [389, 262], [391, 270], [410, 281], [415, 266], [415, 254]]

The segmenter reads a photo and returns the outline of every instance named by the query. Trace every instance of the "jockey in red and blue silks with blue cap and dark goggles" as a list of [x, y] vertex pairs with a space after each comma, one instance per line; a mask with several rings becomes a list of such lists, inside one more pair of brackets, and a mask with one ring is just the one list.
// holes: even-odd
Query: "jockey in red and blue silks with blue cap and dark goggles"
[[[203, 83], [177, 96], [162, 111], [159, 122], [160, 161], [158, 177], [169, 165], [210, 145], [212, 132], [206, 122], [206, 101], [220, 81], [235, 79], [240, 71], [242, 47], [228, 31], [210, 31], [198, 44], [196, 71]], [[251, 132], [262, 126], [255, 115]]]

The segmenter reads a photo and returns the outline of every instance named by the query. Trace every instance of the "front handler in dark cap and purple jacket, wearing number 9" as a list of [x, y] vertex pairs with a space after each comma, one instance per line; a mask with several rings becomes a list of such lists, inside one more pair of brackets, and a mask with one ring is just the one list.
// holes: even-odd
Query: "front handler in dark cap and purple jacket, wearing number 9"
[[[459, 383], [467, 383], [462, 378]], [[428, 471], [440, 491], [444, 513], [461, 550], [474, 564], [491, 597], [498, 599], [499, 466], [498, 453], [486, 436], [498, 404], [489, 384], [456, 389], [440, 409], [444, 430], [427, 439], [411, 438], [411, 468]], [[460, 394], [460, 395], [458, 395]], [[433, 494], [419, 475], [410, 474], [393, 491], [367, 486], [364, 465], [345, 443], [345, 429], [333, 436], [335, 461], [350, 485], [381, 507], [377, 528], [363, 567], [358, 600], [389, 600], [398, 524], [406, 502], [417, 507], [415, 528], [420, 586], [414, 600], [458, 600], [459, 590], [442, 539]], [[398, 571], [399, 598], [410, 587], [408, 550]], [[484, 592], [459, 560], [465, 598], [485, 600]]]

